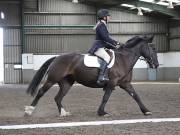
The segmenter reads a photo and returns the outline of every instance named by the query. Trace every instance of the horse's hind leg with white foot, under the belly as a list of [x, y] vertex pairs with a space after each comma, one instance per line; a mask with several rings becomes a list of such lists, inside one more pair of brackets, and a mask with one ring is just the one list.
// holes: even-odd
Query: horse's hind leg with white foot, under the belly
[[59, 82], [59, 92], [55, 96], [54, 100], [58, 106], [59, 114], [60, 116], [68, 116], [70, 115], [69, 112], [66, 112], [65, 109], [63, 108], [61, 102], [63, 100], [63, 97], [67, 94], [71, 86], [74, 84], [74, 80], [71, 77], [66, 77], [64, 78], [61, 82]]

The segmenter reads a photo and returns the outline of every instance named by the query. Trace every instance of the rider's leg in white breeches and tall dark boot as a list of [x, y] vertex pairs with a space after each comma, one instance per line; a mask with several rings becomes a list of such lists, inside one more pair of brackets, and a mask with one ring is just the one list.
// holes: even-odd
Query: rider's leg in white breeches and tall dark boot
[[109, 81], [108, 72], [107, 72], [108, 70], [107, 65], [110, 61], [109, 54], [104, 50], [104, 48], [99, 48], [94, 54], [104, 60], [102, 61], [101, 66], [100, 66], [100, 72], [99, 72], [97, 83], [101, 83], [103, 81]]

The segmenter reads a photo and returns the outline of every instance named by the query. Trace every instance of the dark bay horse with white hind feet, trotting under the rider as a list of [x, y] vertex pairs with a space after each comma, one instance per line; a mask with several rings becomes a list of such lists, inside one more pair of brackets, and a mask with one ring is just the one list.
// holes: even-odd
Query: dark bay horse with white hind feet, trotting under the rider
[[[31, 115], [39, 99], [57, 83], [60, 89], [55, 96], [55, 102], [58, 106], [60, 116], [69, 115], [63, 108], [61, 102], [76, 81], [87, 87], [103, 88], [104, 96], [97, 111], [99, 116], [107, 114], [104, 111], [105, 105], [115, 86], [119, 86], [128, 92], [137, 102], [144, 115], [151, 115], [151, 112], [144, 106], [140, 97], [135, 92], [131, 85], [131, 80], [132, 69], [141, 56], [144, 57], [150, 68], [157, 68], [159, 66], [157, 52], [152, 44], [153, 37], [154, 36], [135, 36], [128, 40], [123, 48], [115, 49], [115, 63], [109, 70], [110, 81], [102, 85], [96, 83], [99, 69], [86, 67], [83, 63], [84, 55], [82, 54], [65, 54], [47, 60], [37, 71], [27, 89], [27, 93], [30, 93], [32, 96], [38, 93], [31, 106], [25, 107], [25, 114]], [[38, 90], [38, 86], [44, 76], [47, 77], [45, 83]]]

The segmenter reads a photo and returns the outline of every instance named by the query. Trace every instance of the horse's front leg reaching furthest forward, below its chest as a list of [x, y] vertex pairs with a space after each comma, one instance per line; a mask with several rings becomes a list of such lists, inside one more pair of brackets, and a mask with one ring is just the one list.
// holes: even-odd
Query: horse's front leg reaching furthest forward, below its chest
[[140, 97], [135, 92], [133, 86], [130, 83], [123, 83], [119, 85], [122, 89], [124, 89], [133, 99], [136, 101], [136, 103], [139, 105], [139, 108], [141, 109], [142, 113], [144, 115], [151, 115], [152, 113], [144, 106], [142, 103]]

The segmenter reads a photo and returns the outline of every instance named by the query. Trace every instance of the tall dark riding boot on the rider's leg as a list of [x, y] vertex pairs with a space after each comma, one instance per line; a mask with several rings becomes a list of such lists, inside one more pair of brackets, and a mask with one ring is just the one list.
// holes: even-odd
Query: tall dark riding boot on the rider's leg
[[98, 80], [97, 80], [98, 84], [101, 84], [104, 81], [109, 81], [108, 72], [107, 72], [107, 70], [108, 70], [107, 65], [108, 64], [105, 61], [103, 61], [101, 63], [99, 77], [98, 77]]

